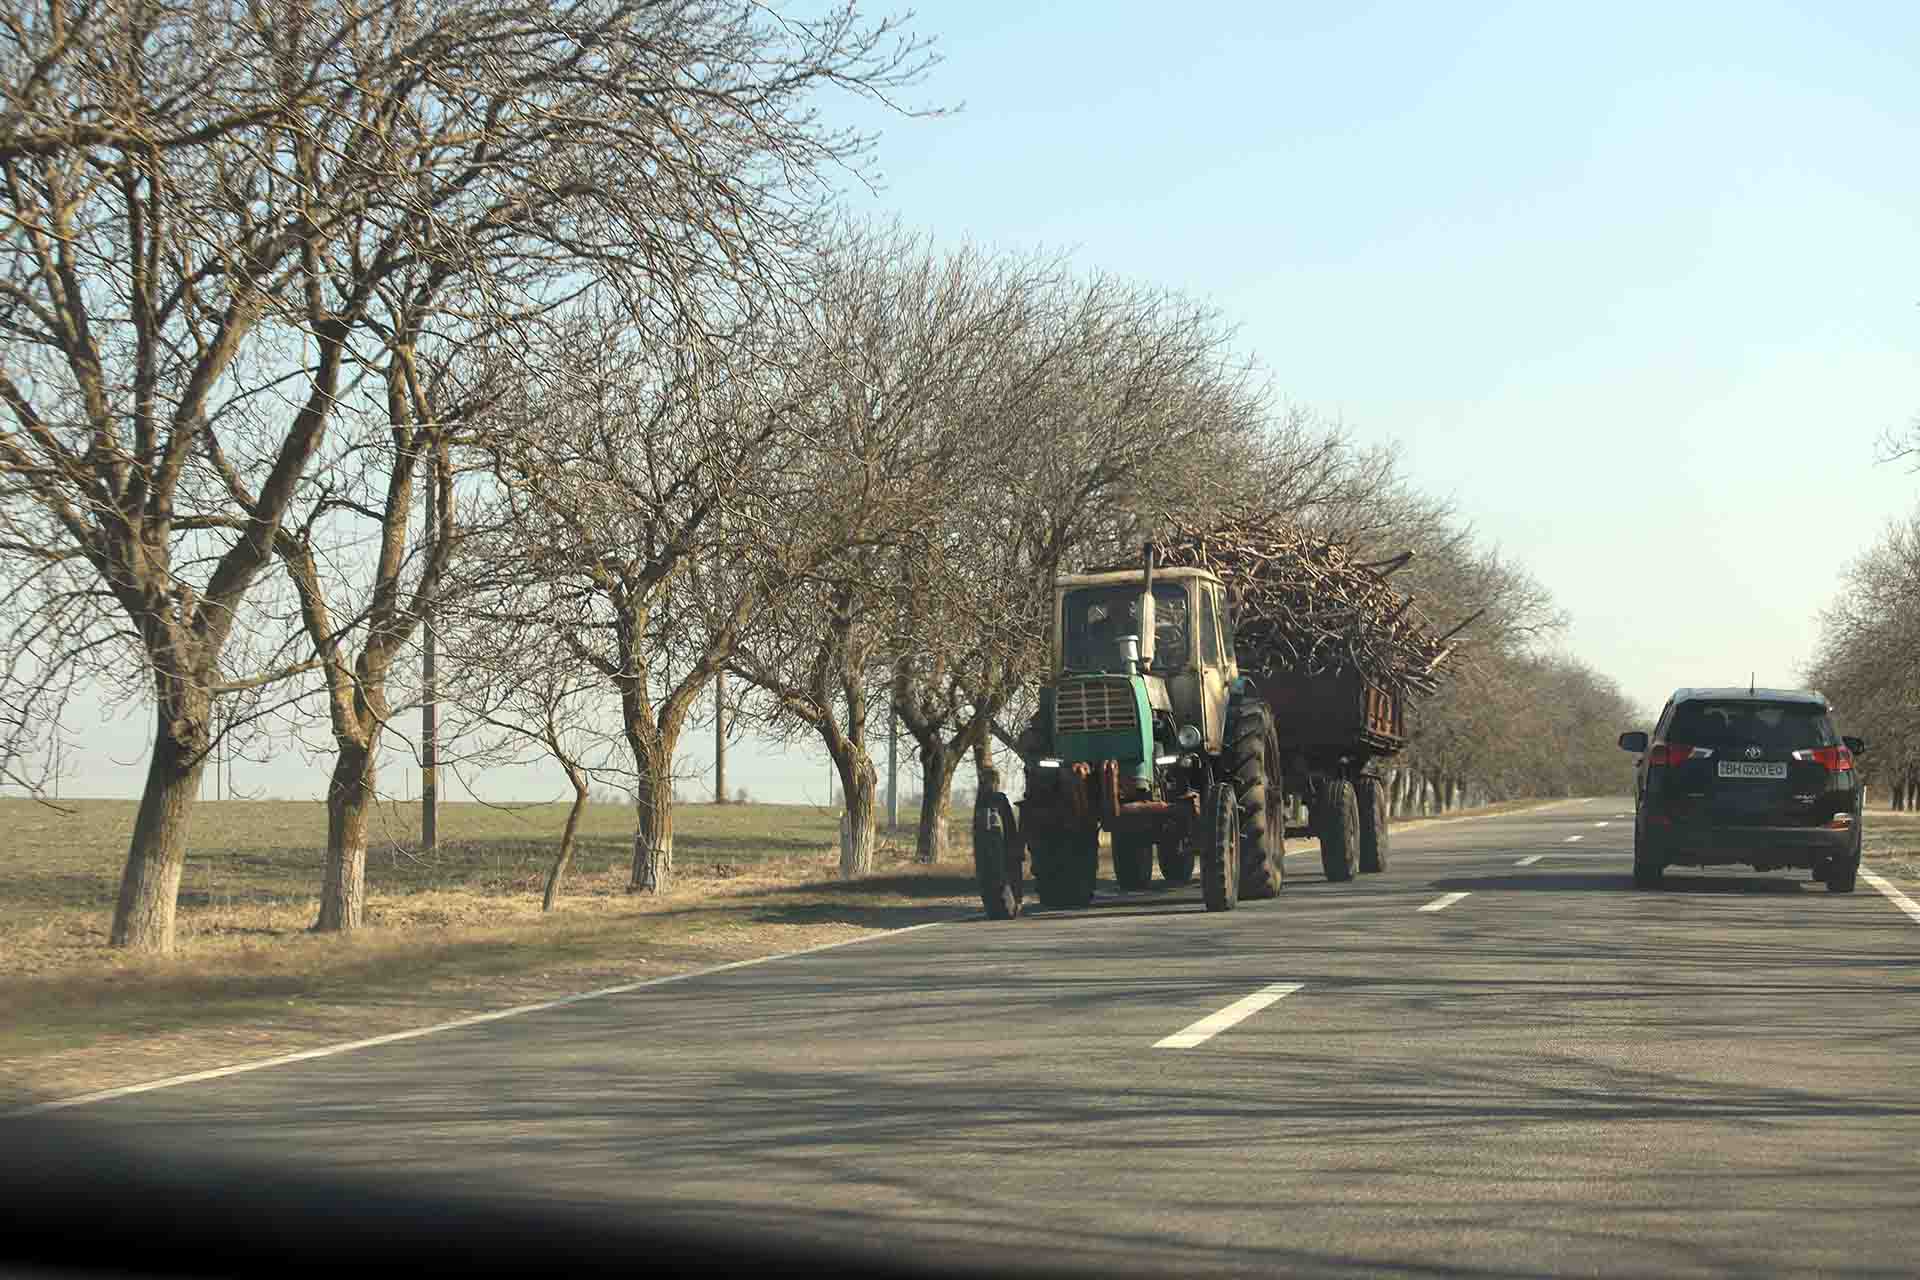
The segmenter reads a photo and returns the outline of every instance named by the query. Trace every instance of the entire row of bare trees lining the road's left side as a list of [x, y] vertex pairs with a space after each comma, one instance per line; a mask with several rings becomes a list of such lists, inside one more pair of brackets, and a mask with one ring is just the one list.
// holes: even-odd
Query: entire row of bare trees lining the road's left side
[[[1392, 451], [1275, 405], [1215, 311], [835, 217], [868, 138], [814, 102], [924, 75], [891, 19], [4, 6], [0, 768], [38, 781], [75, 687], [154, 708], [115, 944], [171, 948], [223, 735], [330, 760], [317, 927], [359, 927], [378, 764], [426, 747], [428, 695], [461, 768], [568, 779], [549, 906], [595, 787], [636, 800], [630, 887], [672, 883], [722, 674], [826, 747], [849, 877], [897, 714], [937, 860], [956, 770], [1027, 714], [1054, 574], [1223, 505], [1413, 547], [1423, 604], [1486, 610], [1417, 768], [1584, 785], [1605, 687], [1530, 656], [1546, 593]], [[1548, 702], [1559, 764], [1517, 764], [1503, 718]]]

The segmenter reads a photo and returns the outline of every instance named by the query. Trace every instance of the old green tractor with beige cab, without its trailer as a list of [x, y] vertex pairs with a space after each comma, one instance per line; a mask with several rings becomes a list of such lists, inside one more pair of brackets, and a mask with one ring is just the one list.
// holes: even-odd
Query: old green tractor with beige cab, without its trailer
[[1054, 581], [1052, 672], [1018, 741], [1025, 796], [975, 806], [991, 919], [1020, 915], [1025, 862], [1046, 910], [1085, 908], [1114, 846], [1121, 889], [1192, 881], [1210, 912], [1281, 889], [1284, 802], [1273, 714], [1235, 662], [1221, 580], [1202, 568]]

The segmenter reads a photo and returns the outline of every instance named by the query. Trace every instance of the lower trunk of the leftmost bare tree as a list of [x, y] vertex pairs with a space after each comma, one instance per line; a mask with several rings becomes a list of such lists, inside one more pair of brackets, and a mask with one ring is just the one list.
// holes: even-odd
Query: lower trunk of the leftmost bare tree
[[[173, 913], [180, 898], [180, 871], [186, 865], [186, 819], [200, 791], [205, 743], [179, 741], [169, 731], [165, 706], [157, 720], [154, 758], [146, 768], [140, 816], [132, 823], [127, 869], [121, 873], [108, 942], [134, 952], [167, 954], [173, 950]], [[204, 718], [200, 733], [205, 733]]]

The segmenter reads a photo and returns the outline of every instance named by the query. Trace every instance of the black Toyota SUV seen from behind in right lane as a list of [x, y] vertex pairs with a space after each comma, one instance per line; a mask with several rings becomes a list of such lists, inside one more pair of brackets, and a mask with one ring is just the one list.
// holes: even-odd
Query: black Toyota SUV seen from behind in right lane
[[1832, 892], [1853, 892], [1860, 869], [1860, 785], [1866, 745], [1834, 733], [1818, 693], [1678, 689], [1634, 787], [1634, 885], [1659, 889], [1670, 865], [1803, 867]]

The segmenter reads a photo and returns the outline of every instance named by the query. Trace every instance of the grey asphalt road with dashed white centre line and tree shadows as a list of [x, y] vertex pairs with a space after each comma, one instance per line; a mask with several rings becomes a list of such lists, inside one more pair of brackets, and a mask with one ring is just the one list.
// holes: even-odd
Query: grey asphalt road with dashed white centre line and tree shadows
[[1914, 1274], [1920, 923], [1803, 873], [1636, 892], [1626, 808], [1415, 827], [1350, 885], [1294, 841], [1225, 915], [1102, 881], [84, 1111], [996, 1270]]

